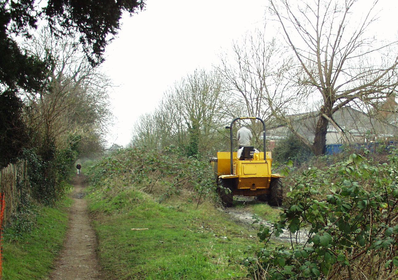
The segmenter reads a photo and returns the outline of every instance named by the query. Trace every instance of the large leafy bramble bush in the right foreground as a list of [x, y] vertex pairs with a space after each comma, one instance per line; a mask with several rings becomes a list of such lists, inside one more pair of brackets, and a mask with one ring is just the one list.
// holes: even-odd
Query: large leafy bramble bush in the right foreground
[[[252, 278], [397, 279], [398, 154], [376, 163], [357, 154], [292, 175], [288, 206], [271, 232], [261, 227], [264, 247], [248, 257]], [[267, 246], [272, 233], [291, 233], [291, 244]]]

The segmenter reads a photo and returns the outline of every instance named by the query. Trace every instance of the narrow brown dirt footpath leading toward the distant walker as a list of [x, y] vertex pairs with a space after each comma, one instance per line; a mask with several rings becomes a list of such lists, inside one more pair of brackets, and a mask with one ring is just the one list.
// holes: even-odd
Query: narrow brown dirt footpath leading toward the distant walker
[[82, 193], [83, 181], [83, 174], [74, 177], [69, 229], [55, 270], [50, 275], [52, 280], [102, 279], [96, 255], [96, 235]]

